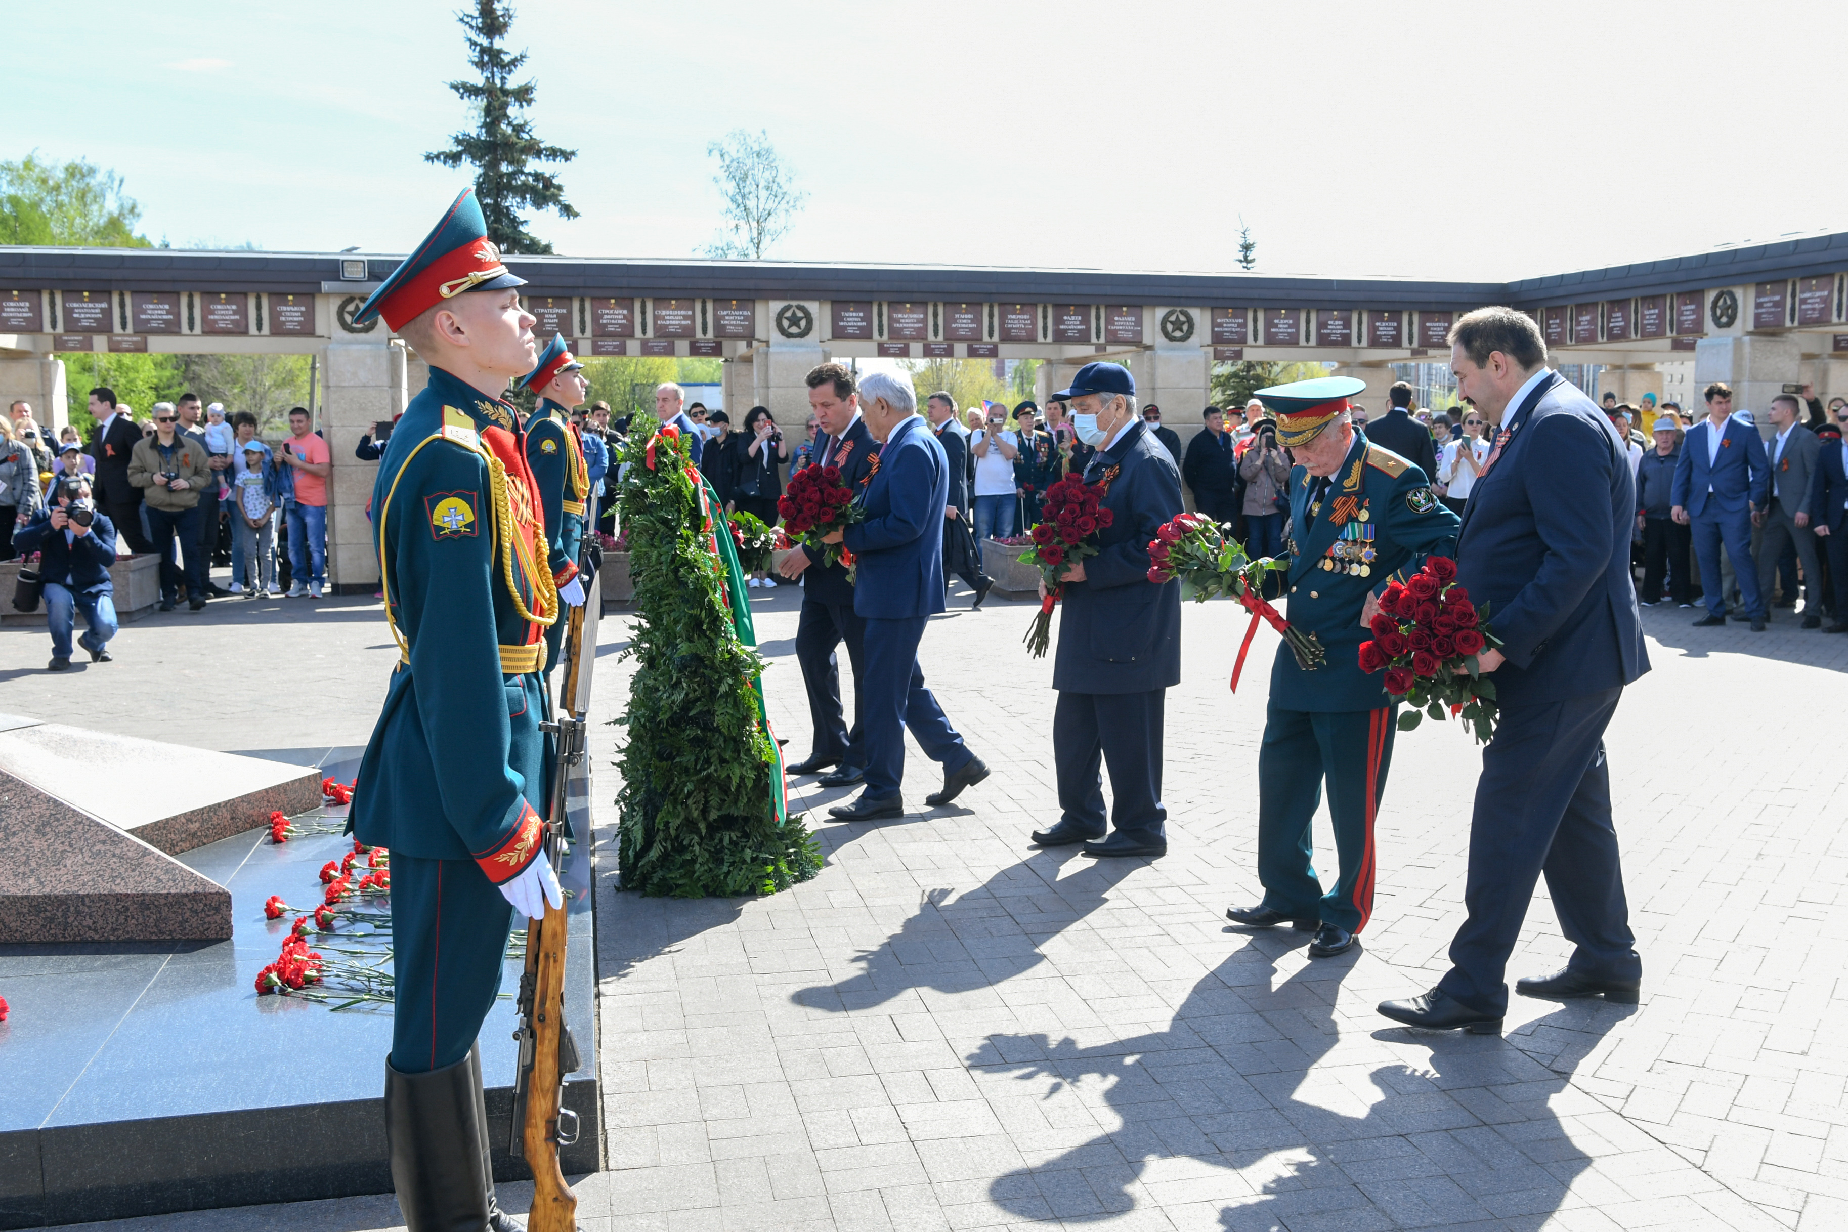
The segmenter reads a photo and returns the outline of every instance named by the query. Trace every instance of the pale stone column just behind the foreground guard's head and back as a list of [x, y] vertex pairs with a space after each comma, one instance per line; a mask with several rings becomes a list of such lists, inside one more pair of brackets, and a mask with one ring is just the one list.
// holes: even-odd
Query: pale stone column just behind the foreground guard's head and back
[[322, 369], [325, 403], [316, 427], [333, 454], [327, 484], [327, 582], [334, 593], [364, 593], [379, 584], [379, 558], [366, 515], [379, 464], [360, 462], [353, 449], [377, 421], [405, 410], [405, 345], [394, 345], [384, 331], [377, 338], [334, 340], [327, 344]]

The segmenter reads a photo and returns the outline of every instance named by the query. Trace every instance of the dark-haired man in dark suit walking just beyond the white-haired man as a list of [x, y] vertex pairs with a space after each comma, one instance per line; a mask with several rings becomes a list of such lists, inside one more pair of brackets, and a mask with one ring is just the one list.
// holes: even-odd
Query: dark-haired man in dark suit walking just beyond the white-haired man
[[[859, 395], [854, 392], [854, 373], [846, 364], [817, 364], [808, 375], [809, 406], [824, 436], [817, 438], [817, 465], [839, 467], [841, 482], [861, 491], [859, 482], [872, 473], [872, 454], [880, 443], [867, 432], [859, 416]], [[848, 787], [867, 774], [867, 741], [861, 715], [867, 696], [865, 635], [867, 622], [854, 611], [854, 584], [846, 580], [846, 565], [822, 563], [821, 549], [802, 547], [784, 558], [782, 574], [802, 578], [802, 615], [796, 621], [796, 663], [802, 665], [802, 685], [809, 698], [809, 730], [813, 744], [806, 761], [789, 767], [789, 774], [813, 774], [833, 767], [821, 778], [822, 787]], [[846, 659], [854, 665], [854, 730], [841, 717], [841, 667], [835, 648], [846, 643]]]

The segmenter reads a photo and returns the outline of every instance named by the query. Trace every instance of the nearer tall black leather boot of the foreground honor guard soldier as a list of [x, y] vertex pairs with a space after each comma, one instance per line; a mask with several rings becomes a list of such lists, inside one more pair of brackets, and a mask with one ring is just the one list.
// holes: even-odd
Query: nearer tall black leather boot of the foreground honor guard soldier
[[384, 1062], [384, 1143], [407, 1232], [482, 1232], [488, 1226], [488, 1136], [477, 1119], [471, 1057], [429, 1073]]

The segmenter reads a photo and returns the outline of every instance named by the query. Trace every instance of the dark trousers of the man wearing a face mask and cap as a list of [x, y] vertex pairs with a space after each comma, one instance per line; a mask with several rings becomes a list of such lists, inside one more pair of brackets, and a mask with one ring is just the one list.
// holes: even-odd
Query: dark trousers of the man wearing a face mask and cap
[[1168, 691], [1059, 693], [1052, 711], [1052, 757], [1059, 776], [1059, 818], [1103, 837], [1103, 776], [1111, 767], [1111, 824], [1166, 840], [1161, 802], [1161, 741]]

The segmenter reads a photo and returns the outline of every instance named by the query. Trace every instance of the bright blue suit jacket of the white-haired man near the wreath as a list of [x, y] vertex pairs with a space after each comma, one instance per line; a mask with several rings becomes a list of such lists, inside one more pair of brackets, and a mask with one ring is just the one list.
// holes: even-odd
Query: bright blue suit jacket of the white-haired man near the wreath
[[942, 611], [942, 506], [950, 462], [924, 419], [902, 419], [867, 484], [867, 521], [846, 528], [857, 558], [854, 611], [902, 621]]

